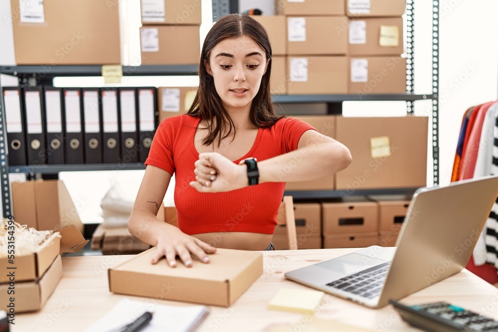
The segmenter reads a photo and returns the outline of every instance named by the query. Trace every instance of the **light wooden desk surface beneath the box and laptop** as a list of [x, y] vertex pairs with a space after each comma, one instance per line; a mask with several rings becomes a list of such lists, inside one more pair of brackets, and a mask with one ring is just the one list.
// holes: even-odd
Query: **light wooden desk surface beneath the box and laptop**
[[[305, 288], [286, 280], [284, 272], [350, 253], [356, 249], [318, 249], [265, 251], [264, 274], [230, 308], [211, 307], [200, 332], [271, 331], [279, 324], [295, 324], [305, 315], [267, 309], [268, 302], [280, 288]], [[124, 295], [109, 292], [107, 269], [130, 256], [63, 257], [63, 277], [54, 293], [37, 313], [16, 314], [18, 332], [84, 331], [104, 316]], [[168, 305], [188, 303], [129, 296], [133, 300], [157, 301]], [[446, 280], [423, 289], [401, 302], [419, 304], [447, 301], [498, 319], [498, 289], [464, 270]], [[325, 295], [315, 317], [335, 320], [370, 331], [419, 331], [410, 328], [392, 306], [368, 309], [340, 298]], [[287, 330], [286, 330], [287, 331]]]

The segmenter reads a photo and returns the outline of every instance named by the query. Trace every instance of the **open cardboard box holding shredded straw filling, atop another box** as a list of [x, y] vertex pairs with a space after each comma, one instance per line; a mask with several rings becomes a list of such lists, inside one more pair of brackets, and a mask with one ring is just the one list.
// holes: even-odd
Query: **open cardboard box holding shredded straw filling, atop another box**
[[[20, 243], [17, 243], [19, 247]], [[15, 266], [15, 281], [36, 280], [50, 267], [54, 258], [59, 254], [60, 237], [57, 234], [47, 239], [38, 252], [30, 255], [15, 255], [15, 264], [9, 264], [8, 259], [0, 258], [0, 268], [2, 271], [9, 271], [7, 268]], [[0, 283], [8, 282], [7, 273], [0, 275]]]

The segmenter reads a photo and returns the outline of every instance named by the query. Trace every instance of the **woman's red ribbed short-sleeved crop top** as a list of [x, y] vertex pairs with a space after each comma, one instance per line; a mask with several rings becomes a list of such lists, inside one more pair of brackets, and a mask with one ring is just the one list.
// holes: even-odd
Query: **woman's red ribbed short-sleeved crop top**
[[[163, 120], [145, 161], [145, 165], [175, 173], [179, 228], [187, 234], [231, 231], [273, 234], [284, 182], [266, 182], [224, 193], [200, 193], [189, 185], [195, 181], [194, 162], [199, 159], [194, 146], [199, 121], [200, 118], [186, 114]], [[294, 118], [282, 118], [270, 128], [259, 128], [252, 148], [234, 163], [249, 157], [262, 161], [296, 150], [301, 135], [309, 129], [314, 128]], [[292, 162], [282, 165], [282, 172], [292, 165]]]

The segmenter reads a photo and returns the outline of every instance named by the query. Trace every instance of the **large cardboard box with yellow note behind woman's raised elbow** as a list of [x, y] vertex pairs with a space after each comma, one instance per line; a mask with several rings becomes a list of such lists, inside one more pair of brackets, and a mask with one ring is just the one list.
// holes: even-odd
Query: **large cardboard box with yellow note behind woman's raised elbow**
[[336, 189], [418, 188], [427, 183], [427, 116], [336, 118], [336, 139], [352, 163], [336, 174]]

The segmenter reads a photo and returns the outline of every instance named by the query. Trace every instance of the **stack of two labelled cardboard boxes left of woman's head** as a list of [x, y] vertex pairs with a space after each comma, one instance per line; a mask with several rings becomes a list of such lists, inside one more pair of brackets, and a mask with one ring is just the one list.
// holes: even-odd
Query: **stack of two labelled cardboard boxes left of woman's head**
[[201, 0], [142, 0], [142, 65], [198, 65]]

